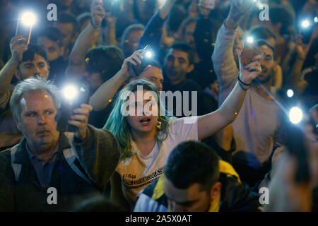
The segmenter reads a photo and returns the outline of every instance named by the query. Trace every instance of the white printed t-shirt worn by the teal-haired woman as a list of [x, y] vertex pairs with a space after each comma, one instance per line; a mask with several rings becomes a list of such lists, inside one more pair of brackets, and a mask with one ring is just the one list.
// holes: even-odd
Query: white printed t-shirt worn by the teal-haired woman
[[[186, 121], [187, 120], [187, 121]], [[192, 123], [189, 123], [192, 122]], [[170, 121], [167, 138], [159, 150], [158, 143], [146, 156], [141, 155], [134, 142], [132, 157], [119, 162], [116, 171], [122, 178], [122, 191], [126, 198], [136, 202], [136, 195], [163, 174], [167, 157], [183, 141], [198, 141], [198, 117], [184, 117]]]

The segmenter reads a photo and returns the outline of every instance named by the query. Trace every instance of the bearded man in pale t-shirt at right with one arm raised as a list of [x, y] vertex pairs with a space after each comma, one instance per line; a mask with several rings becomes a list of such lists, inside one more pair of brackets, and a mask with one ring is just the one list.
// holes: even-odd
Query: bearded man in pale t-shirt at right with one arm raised
[[[232, 46], [242, 12], [239, 1], [232, 1], [228, 18], [223, 23], [216, 39], [212, 55], [213, 66], [220, 85], [219, 105], [228, 96], [234, 85], [238, 69]], [[245, 9], [247, 11], [248, 8]], [[257, 46], [265, 53], [261, 60], [261, 73], [251, 84], [240, 114], [232, 123], [236, 148], [233, 166], [242, 181], [253, 186], [269, 170], [267, 164], [275, 143], [279, 142], [280, 108], [275, 102], [275, 89], [271, 80], [276, 70], [275, 49], [266, 40], [257, 40]]]

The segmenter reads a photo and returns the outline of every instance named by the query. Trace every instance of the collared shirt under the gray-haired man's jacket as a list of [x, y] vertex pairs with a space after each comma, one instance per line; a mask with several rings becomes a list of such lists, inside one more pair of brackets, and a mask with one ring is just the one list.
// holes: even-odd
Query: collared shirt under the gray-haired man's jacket
[[52, 169], [54, 167], [54, 163], [57, 158], [57, 152], [59, 150], [59, 144], [57, 144], [47, 160], [42, 160], [34, 155], [28, 148], [27, 142], [25, 142], [25, 149], [28, 152], [35, 172], [37, 172], [37, 179], [39, 179], [41, 186], [49, 187], [49, 184], [51, 183]]

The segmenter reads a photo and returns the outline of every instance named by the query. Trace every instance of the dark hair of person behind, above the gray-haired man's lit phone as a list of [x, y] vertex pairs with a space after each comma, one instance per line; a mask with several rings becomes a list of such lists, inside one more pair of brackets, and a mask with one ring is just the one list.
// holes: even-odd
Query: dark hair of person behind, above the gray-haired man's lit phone
[[100, 46], [88, 50], [85, 59], [86, 69], [91, 73], [100, 73], [105, 82], [122, 68], [124, 53], [115, 46]]

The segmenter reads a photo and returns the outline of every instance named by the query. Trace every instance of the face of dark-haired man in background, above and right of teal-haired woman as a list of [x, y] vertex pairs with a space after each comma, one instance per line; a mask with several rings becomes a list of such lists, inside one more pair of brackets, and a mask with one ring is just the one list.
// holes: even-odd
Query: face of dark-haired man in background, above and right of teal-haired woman
[[184, 80], [187, 73], [194, 69], [194, 65], [189, 63], [187, 52], [177, 49], [169, 49], [165, 57], [165, 73], [170, 83], [177, 84]]

